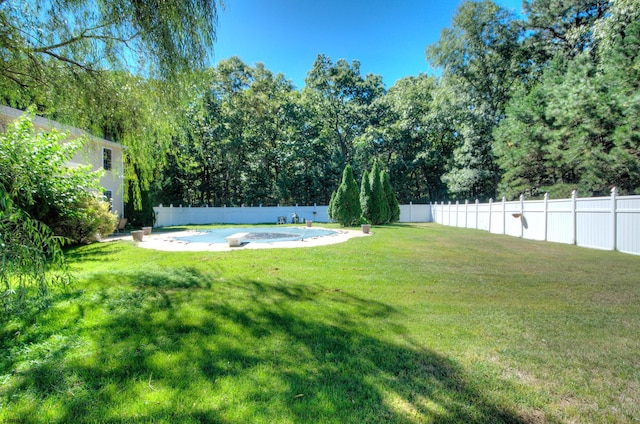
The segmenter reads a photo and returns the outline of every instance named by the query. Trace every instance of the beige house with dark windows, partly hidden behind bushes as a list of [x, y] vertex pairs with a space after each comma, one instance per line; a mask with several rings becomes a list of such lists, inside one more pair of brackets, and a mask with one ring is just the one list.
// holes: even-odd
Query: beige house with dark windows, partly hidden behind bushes
[[[7, 106], [0, 106], [0, 132], [4, 132], [7, 125], [24, 114], [24, 111]], [[35, 116], [33, 126], [36, 131], [49, 132], [57, 129], [69, 135], [69, 138], [86, 137], [84, 147], [76, 152], [69, 166], [91, 165], [92, 170], [104, 169], [100, 178], [100, 186], [104, 195], [110, 199], [112, 210], [118, 216], [124, 216], [124, 149], [121, 144], [102, 138], [94, 137], [86, 131]]]

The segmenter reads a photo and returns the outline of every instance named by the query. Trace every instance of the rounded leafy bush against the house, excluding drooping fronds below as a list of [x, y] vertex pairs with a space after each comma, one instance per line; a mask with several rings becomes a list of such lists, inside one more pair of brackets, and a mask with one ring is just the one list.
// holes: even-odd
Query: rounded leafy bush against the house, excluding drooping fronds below
[[36, 133], [29, 112], [0, 134], [0, 190], [26, 216], [40, 221], [71, 243], [109, 235], [116, 217], [101, 199], [101, 171], [67, 162], [83, 140], [58, 133]]

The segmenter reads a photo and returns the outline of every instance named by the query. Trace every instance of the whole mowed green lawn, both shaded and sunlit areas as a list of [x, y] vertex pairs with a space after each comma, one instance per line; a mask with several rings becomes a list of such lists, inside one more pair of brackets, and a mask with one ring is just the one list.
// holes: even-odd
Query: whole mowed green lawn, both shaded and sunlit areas
[[0, 422], [634, 422], [640, 257], [435, 224], [68, 256], [0, 329]]

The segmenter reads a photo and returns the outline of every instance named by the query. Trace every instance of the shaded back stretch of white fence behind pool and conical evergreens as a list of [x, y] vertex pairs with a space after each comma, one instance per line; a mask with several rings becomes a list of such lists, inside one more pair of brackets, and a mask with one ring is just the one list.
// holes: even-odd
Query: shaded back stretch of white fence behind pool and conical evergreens
[[[156, 226], [201, 224], [264, 224], [276, 223], [285, 217], [287, 223], [295, 214], [299, 222], [329, 222], [327, 206], [241, 206], [190, 207], [157, 206]], [[400, 222], [431, 222], [431, 205], [400, 205]]]

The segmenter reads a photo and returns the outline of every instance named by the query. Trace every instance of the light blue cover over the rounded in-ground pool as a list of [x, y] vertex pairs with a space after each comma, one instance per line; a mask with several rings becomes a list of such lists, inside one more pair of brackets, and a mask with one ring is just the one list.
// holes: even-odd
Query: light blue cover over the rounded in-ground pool
[[197, 235], [176, 237], [176, 240], [190, 243], [226, 243], [225, 237], [236, 233], [249, 233], [243, 240], [249, 243], [273, 243], [277, 241], [297, 241], [310, 237], [336, 234], [337, 231], [309, 227], [233, 227], [205, 230]]

